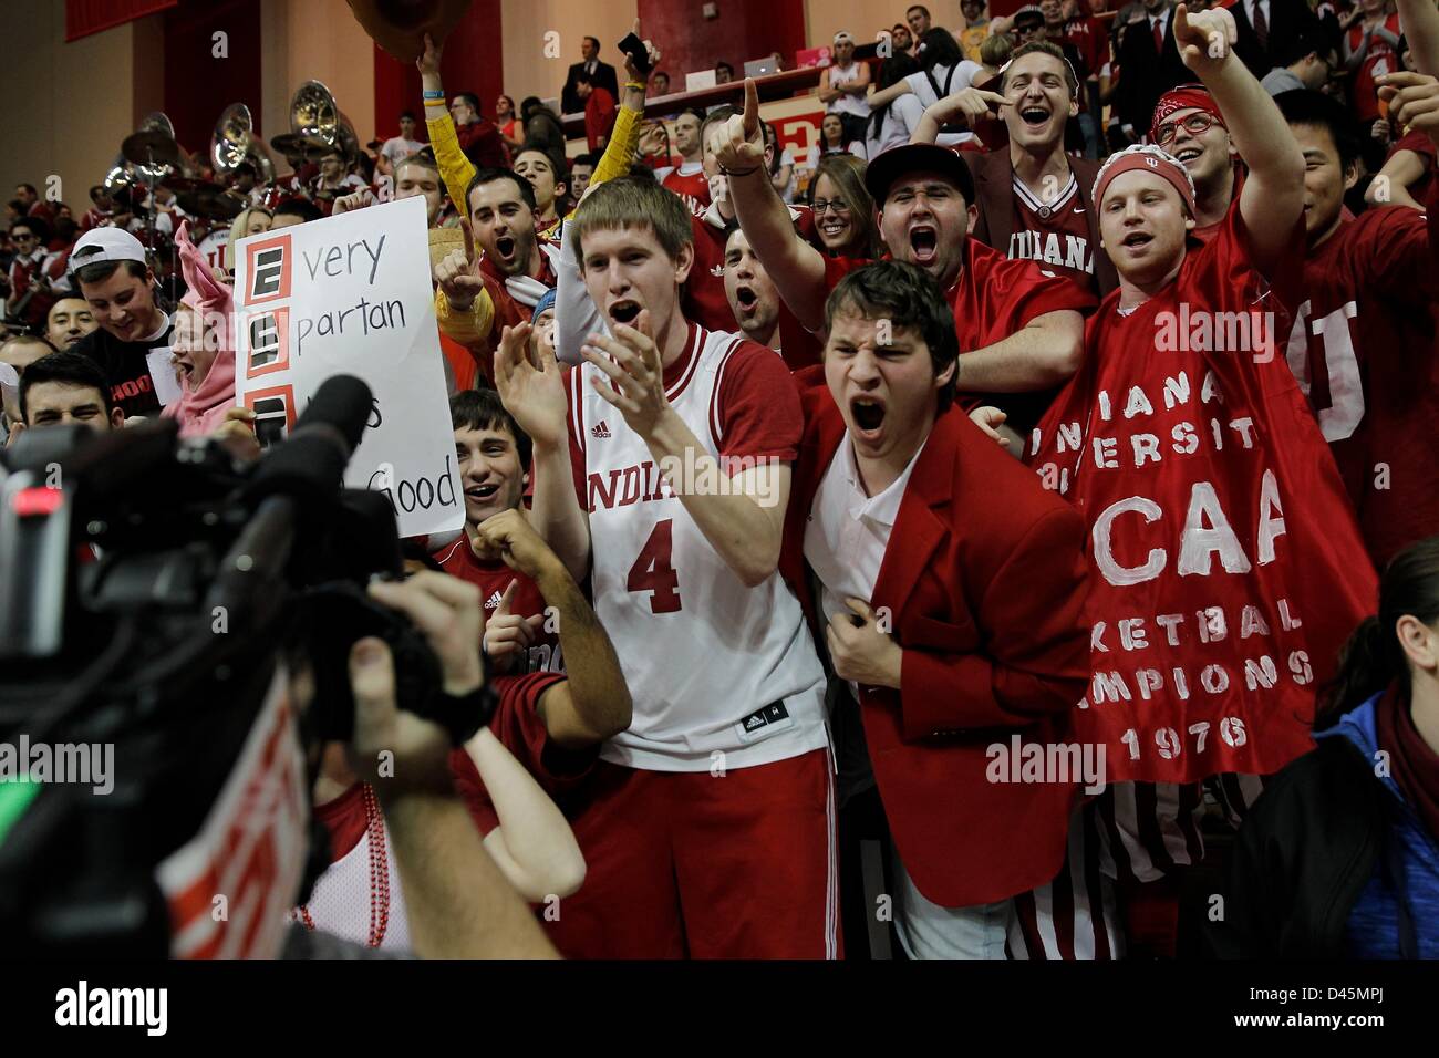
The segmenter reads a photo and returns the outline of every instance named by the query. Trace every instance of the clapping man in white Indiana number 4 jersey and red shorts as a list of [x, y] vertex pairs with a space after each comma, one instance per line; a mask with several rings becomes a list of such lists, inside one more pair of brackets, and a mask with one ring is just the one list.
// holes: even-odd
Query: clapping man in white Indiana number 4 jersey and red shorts
[[606, 181], [570, 236], [613, 337], [561, 373], [521, 327], [496, 380], [534, 440], [534, 524], [590, 576], [635, 713], [573, 816], [589, 874], [551, 936], [590, 957], [836, 957], [825, 674], [777, 570], [793, 376], [685, 317], [678, 196]]

